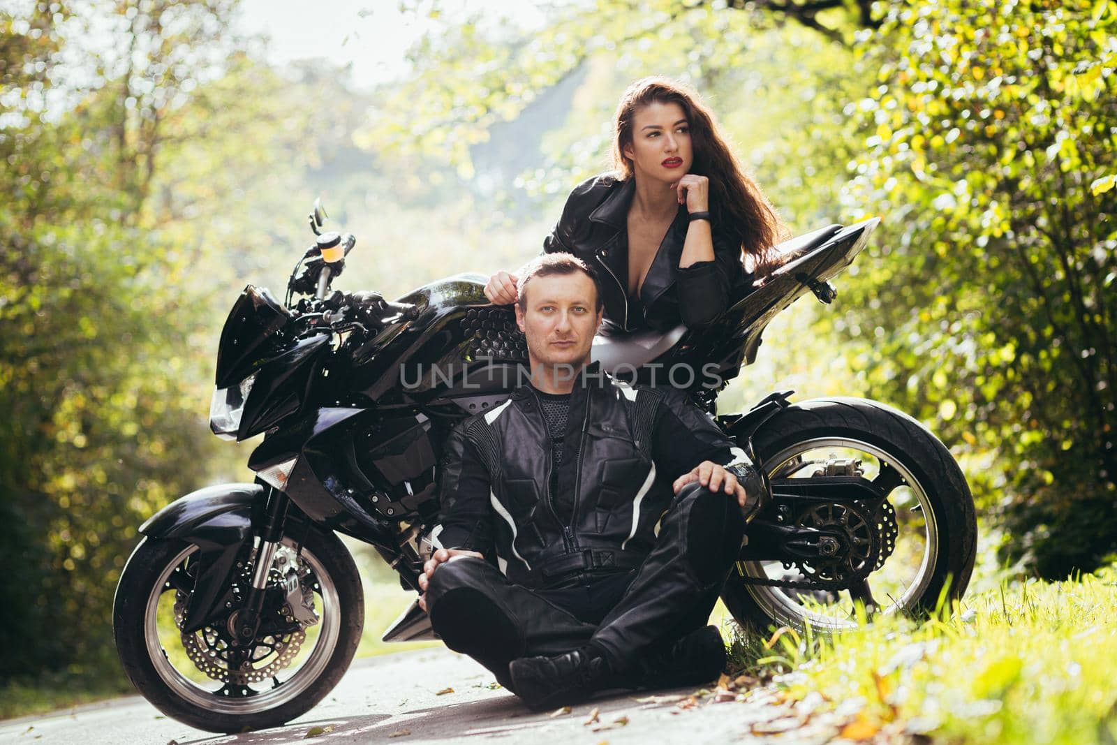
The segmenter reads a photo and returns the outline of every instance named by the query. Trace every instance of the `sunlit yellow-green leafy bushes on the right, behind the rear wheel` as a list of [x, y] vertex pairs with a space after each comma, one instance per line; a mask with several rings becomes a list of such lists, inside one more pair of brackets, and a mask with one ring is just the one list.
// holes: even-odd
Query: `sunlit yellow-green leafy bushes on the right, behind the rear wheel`
[[1052, 577], [1117, 547], [1115, 31], [1113, 2], [900, 3], [847, 107], [847, 203], [885, 225], [834, 327], [871, 394], [1000, 455], [1006, 553]]

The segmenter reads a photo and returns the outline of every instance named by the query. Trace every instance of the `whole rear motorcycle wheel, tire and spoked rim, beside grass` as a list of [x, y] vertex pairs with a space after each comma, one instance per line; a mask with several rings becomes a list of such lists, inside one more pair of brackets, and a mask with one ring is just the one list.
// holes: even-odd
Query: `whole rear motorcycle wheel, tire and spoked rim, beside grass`
[[849, 589], [811, 590], [779, 583], [832, 580], [840, 570], [737, 562], [722, 600], [743, 628], [764, 632], [810, 624], [838, 631], [858, 625], [859, 604], [872, 612], [925, 615], [962, 596], [976, 557], [973, 497], [949, 451], [918, 421], [866, 399], [817, 399], [765, 422], [753, 447], [772, 479], [856, 471], [886, 493], [887, 502], [877, 513], [838, 504], [784, 512], [790, 524], [843, 531], [855, 546], [876, 541], [880, 553], [867, 550], [865, 558], [876, 557], [876, 569]]

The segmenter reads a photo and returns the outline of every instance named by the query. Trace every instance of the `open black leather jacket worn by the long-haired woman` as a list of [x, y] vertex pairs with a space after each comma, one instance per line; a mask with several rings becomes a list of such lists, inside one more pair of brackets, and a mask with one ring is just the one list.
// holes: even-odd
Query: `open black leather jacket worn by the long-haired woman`
[[640, 286], [640, 296], [631, 298], [628, 210], [634, 193], [632, 179], [621, 181], [604, 174], [583, 181], [566, 199], [543, 249], [574, 254], [594, 267], [604, 295], [605, 319], [624, 331], [667, 331], [680, 323], [700, 326], [714, 321], [751, 281], [741, 264], [741, 241], [714, 225], [714, 260], [680, 269], [689, 228], [687, 209], [680, 206]]

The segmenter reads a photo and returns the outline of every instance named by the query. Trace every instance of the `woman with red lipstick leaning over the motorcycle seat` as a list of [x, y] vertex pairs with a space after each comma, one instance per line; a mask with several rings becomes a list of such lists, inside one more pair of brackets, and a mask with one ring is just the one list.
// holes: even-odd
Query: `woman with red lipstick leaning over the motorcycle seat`
[[[600, 274], [605, 318], [624, 331], [714, 321], [771, 268], [782, 226], [746, 176], [695, 92], [662, 77], [637, 80], [617, 107], [614, 173], [579, 184], [547, 252], [574, 254]], [[516, 300], [498, 271], [491, 303]]]

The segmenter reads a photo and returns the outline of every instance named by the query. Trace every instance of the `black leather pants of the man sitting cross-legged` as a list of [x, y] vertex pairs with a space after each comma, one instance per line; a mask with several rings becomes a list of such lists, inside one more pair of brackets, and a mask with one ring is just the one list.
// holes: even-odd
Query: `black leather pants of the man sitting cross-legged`
[[610, 667], [637, 674], [640, 660], [706, 624], [741, 548], [736, 498], [687, 485], [636, 570], [580, 572], [528, 589], [488, 562], [461, 556], [431, 575], [427, 610], [450, 649], [472, 657], [510, 689], [508, 663], [592, 643]]

